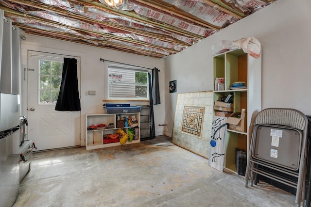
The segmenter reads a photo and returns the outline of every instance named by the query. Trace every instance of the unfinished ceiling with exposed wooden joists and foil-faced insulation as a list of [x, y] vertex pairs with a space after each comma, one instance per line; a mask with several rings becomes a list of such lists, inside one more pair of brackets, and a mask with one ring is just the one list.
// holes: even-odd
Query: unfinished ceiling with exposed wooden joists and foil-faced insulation
[[162, 58], [274, 1], [0, 0], [0, 9], [26, 33]]

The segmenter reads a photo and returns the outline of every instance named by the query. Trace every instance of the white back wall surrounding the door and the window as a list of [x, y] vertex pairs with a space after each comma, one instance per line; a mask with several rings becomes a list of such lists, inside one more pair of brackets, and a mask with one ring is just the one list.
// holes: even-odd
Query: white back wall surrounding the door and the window
[[[105, 98], [106, 81], [105, 81], [105, 64], [108, 62], [100, 61], [110, 60], [125, 64], [138, 65], [147, 68], [157, 67], [160, 69], [159, 85], [161, 104], [154, 106], [155, 111], [155, 134], [162, 135], [165, 132], [163, 127], [158, 124], [164, 123], [165, 111], [165, 89], [164, 89], [164, 75], [165, 67], [163, 59], [155, 59], [150, 57], [138, 56], [135, 54], [119, 52], [104, 48], [97, 48], [86, 46], [82, 44], [70, 43], [67, 41], [56, 40], [52, 38], [40, 37], [36, 35], [25, 34], [26, 40], [21, 40], [21, 80], [22, 80], [22, 94], [27, 93], [27, 76], [24, 80], [24, 68], [27, 68], [27, 50], [35, 50], [42, 52], [51, 52], [57, 54], [65, 54], [81, 57], [81, 126], [82, 137], [85, 136], [85, 114], [90, 113], [105, 113], [103, 109], [103, 99]], [[86, 92], [95, 90], [96, 96], [86, 96]], [[132, 106], [149, 105], [149, 102], [130, 102]], [[27, 97], [22, 97], [22, 114], [27, 116]]]

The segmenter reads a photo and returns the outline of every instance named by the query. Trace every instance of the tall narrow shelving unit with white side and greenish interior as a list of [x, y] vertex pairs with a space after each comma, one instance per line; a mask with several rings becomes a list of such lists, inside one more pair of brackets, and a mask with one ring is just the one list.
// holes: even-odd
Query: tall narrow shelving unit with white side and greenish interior
[[[236, 147], [249, 151], [253, 120], [261, 111], [261, 57], [255, 58], [242, 49], [231, 50], [213, 57], [213, 80], [225, 78], [225, 90], [213, 90], [214, 101], [233, 95], [234, 112], [247, 109], [246, 132], [227, 129], [225, 134], [225, 169], [237, 173]], [[245, 81], [247, 88], [230, 90], [233, 82]], [[247, 155], [249, 156], [249, 155]]]

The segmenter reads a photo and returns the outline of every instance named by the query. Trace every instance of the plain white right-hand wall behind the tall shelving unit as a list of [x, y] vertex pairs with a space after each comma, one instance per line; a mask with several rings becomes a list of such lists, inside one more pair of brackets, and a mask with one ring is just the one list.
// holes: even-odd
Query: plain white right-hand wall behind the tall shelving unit
[[[262, 47], [262, 109], [293, 108], [311, 115], [310, 8], [310, 0], [278, 0], [207, 37], [166, 59], [165, 84], [177, 80], [177, 93], [212, 90], [211, 46], [224, 39], [254, 36]], [[177, 93], [165, 95], [168, 136]]]

